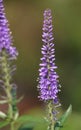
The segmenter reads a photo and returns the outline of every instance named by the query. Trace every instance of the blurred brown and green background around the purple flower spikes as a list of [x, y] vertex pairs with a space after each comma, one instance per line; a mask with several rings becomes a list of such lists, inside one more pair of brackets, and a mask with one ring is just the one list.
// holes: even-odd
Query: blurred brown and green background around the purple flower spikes
[[63, 110], [73, 105], [74, 114], [69, 122], [73, 126], [76, 124], [72, 127], [74, 130], [81, 129], [81, 0], [4, 0], [4, 4], [14, 45], [19, 51], [14, 80], [18, 96], [24, 95], [19, 104], [20, 113], [31, 113], [43, 107], [37, 98], [36, 79], [41, 57], [43, 11], [50, 8], [57, 73], [62, 86], [60, 101]]

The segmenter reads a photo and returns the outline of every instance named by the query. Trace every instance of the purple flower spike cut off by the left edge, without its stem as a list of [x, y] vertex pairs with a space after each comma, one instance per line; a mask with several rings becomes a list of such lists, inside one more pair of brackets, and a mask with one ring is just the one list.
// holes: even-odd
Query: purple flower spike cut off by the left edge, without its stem
[[12, 44], [12, 36], [8, 28], [8, 21], [5, 16], [3, 0], [0, 0], [0, 52], [3, 49], [13, 58], [16, 58], [18, 52]]

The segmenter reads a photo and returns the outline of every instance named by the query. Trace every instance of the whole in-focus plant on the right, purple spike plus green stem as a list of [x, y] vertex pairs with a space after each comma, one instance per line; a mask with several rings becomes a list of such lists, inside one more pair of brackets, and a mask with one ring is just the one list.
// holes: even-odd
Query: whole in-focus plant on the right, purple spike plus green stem
[[[58, 107], [61, 106], [58, 99], [60, 91], [58, 75], [56, 73], [57, 66], [55, 65], [55, 49], [53, 37], [52, 14], [50, 9], [44, 11], [43, 21], [43, 34], [42, 34], [42, 58], [39, 69], [39, 84], [38, 89], [40, 100], [44, 101], [47, 105], [49, 122], [48, 130], [58, 130], [62, 125], [58, 121], [57, 114]], [[64, 119], [64, 118], [63, 118]]]

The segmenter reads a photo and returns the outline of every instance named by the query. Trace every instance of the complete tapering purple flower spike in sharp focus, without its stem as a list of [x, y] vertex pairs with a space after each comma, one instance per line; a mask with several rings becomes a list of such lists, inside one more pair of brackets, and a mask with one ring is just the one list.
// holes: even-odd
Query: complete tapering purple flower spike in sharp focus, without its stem
[[51, 10], [47, 9], [44, 11], [44, 22], [43, 22], [43, 35], [42, 41], [43, 46], [41, 48], [41, 53], [43, 57], [41, 58], [41, 64], [39, 69], [39, 85], [38, 89], [40, 91], [39, 98], [43, 101], [53, 100], [54, 104], [58, 104], [57, 94], [59, 92], [58, 88], [58, 75], [55, 72], [57, 66], [55, 65], [55, 49], [54, 47], [54, 37], [53, 37], [53, 26], [52, 26], [52, 16]]

